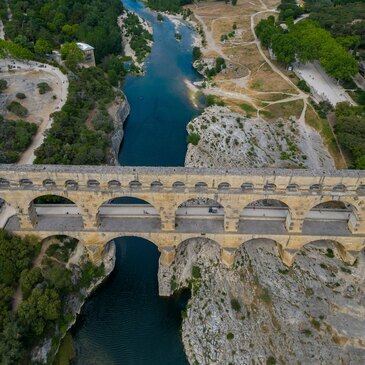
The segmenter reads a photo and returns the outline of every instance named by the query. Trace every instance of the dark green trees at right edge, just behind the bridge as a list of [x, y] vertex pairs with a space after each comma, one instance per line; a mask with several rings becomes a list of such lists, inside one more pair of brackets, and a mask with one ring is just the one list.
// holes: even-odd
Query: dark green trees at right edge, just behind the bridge
[[365, 169], [365, 108], [339, 103], [335, 109], [335, 133], [340, 145], [350, 152], [350, 167]]

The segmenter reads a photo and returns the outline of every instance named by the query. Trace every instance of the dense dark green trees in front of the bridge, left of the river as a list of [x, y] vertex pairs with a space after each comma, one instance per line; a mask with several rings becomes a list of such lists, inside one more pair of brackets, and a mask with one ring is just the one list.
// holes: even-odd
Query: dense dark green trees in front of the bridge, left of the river
[[[79, 293], [103, 274], [85, 262], [78, 275], [65, 267], [77, 240], [60, 237], [49, 246], [41, 265], [33, 267], [40, 252], [36, 238], [19, 238], [0, 230], [0, 363], [29, 363], [29, 349], [45, 336], [56, 338], [73, 318], [67, 304], [70, 293]], [[13, 296], [20, 289], [23, 301], [12, 310]], [[52, 342], [55, 351], [57, 341]]]

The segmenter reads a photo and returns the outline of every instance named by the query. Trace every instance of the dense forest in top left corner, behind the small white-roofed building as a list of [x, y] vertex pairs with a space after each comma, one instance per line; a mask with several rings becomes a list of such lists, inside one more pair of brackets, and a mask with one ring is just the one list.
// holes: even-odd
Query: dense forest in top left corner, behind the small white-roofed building
[[[44, 55], [65, 42], [74, 41], [95, 47], [97, 62], [121, 52], [117, 18], [123, 5], [119, 0], [10, 0], [9, 5], [13, 20], [2, 18], [5, 33], [30, 55], [33, 52]], [[0, 50], [3, 42], [6, 41], [0, 42]], [[9, 47], [15, 46], [8, 44]], [[31, 58], [29, 55], [18, 57]]]

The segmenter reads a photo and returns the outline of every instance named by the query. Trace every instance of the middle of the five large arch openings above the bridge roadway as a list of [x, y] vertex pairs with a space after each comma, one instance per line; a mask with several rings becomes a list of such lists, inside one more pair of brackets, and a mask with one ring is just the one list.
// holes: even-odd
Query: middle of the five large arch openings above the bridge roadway
[[191, 198], [177, 207], [175, 222], [179, 232], [223, 232], [224, 207], [215, 199]]

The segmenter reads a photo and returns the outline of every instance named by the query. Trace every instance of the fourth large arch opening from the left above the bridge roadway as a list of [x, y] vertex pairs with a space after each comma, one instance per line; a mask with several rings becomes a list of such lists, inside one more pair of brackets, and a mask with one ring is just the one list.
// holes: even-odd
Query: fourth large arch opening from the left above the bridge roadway
[[[277, 199], [259, 199], [246, 205], [240, 213], [239, 230], [257, 233], [285, 233], [291, 221], [289, 206]], [[270, 223], [268, 223], [270, 222]]]

